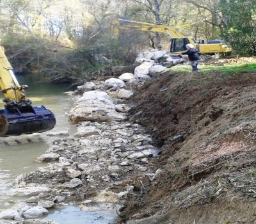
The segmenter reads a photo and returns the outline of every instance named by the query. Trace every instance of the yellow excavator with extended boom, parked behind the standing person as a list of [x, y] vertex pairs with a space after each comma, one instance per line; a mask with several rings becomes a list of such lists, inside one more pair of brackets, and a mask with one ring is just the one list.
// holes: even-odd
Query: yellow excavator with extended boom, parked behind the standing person
[[204, 40], [196, 42], [196, 40], [189, 36], [184, 36], [177, 29], [172, 26], [156, 25], [147, 22], [138, 22], [132, 20], [118, 19], [114, 20], [112, 24], [112, 31], [118, 35], [120, 29], [134, 29], [141, 31], [153, 31], [159, 33], [166, 33], [171, 37], [170, 52], [173, 54], [180, 54], [187, 51], [186, 44], [193, 44], [200, 54], [225, 54], [228, 55], [232, 48], [225, 44], [222, 40], [212, 40], [209, 44], [205, 44]]

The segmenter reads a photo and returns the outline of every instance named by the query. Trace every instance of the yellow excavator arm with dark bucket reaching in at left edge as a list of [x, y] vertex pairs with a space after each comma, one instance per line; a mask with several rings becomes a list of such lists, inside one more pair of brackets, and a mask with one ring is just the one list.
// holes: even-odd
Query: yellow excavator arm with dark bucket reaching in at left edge
[[0, 109], [0, 137], [44, 132], [54, 127], [54, 114], [44, 106], [32, 106], [26, 98], [24, 90], [28, 86], [18, 83], [1, 46], [0, 88], [5, 97], [5, 109]]

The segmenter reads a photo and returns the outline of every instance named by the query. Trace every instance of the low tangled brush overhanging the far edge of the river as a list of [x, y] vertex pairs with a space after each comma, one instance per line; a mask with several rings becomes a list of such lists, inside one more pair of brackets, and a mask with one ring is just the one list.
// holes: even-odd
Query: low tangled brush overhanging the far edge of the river
[[16, 74], [33, 74], [35, 79], [55, 83], [83, 82], [88, 71], [124, 65], [135, 57], [111, 36], [70, 49], [54, 44], [51, 38], [38, 42], [30, 35], [15, 33], [3, 36], [2, 45]]

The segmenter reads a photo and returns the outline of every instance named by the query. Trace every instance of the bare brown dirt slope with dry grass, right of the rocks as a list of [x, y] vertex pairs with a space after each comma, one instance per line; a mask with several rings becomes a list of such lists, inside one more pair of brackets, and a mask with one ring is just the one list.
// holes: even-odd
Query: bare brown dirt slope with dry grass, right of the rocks
[[131, 115], [162, 152], [120, 223], [255, 223], [255, 74], [169, 71], [140, 87]]

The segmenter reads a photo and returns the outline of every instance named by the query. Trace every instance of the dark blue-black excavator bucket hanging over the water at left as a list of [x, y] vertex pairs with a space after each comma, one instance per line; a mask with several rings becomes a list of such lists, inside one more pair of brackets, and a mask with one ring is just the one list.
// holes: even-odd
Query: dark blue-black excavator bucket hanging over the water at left
[[0, 137], [49, 131], [55, 124], [54, 114], [44, 106], [0, 110]]

